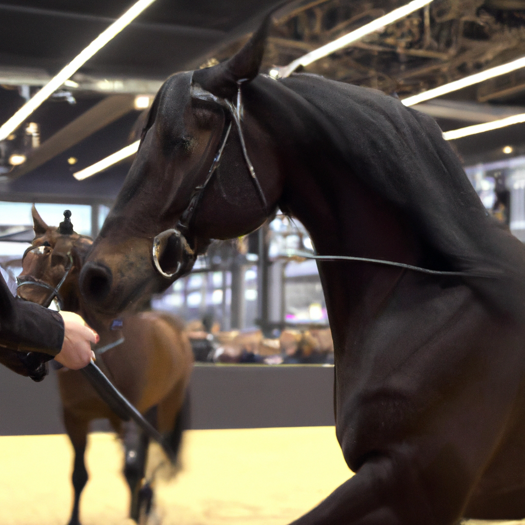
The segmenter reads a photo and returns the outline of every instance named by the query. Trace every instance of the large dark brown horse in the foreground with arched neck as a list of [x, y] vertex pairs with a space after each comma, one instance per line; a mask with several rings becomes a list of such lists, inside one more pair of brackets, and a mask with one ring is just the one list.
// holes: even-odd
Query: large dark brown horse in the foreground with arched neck
[[114, 316], [279, 207], [328, 258], [336, 433], [356, 473], [294, 525], [523, 518], [525, 248], [425, 114], [259, 74], [269, 21], [232, 58], [161, 87], [83, 296]]

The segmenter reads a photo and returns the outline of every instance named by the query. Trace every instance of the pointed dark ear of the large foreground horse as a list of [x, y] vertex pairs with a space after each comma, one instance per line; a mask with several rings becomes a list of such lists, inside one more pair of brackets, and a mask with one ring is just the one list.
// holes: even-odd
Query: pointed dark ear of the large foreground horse
[[271, 15], [282, 5], [283, 3], [271, 9], [244, 47], [233, 57], [216, 66], [194, 71], [193, 81], [217, 97], [234, 97], [237, 93], [238, 82], [249, 82], [258, 75]]

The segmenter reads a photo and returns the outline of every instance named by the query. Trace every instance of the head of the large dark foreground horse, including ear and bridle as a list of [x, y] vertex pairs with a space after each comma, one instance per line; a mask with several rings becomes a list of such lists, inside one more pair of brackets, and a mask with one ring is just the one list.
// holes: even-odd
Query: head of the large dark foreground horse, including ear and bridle
[[155, 97], [137, 157], [81, 272], [91, 307], [116, 314], [164, 290], [211, 239], [247, 234], [275, 209], [283, 185], [275, 145], [242, 104], [270, 19], [235, 56], [173, 75]]

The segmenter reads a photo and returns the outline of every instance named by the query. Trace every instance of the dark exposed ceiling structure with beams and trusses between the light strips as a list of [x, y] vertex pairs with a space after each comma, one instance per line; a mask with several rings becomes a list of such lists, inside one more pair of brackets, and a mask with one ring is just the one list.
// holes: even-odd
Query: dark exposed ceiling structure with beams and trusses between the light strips
[[[4, 0], [0, 3], [0, 123], [132, 2]], [[264, 70], [376, 19], [406, 0], [304, 0], [280, 9]], [[0, 141], [0, 198], [110, 202], [129, 162], [85, 181], [78, 171], [127, 145], [140, 116], [172, 72], [212, 65], [244, 44], [275, 0], [156, 0], [91, 58], [8, 140]], [[434, 0], [398, 22], [320, 59], [306, 71], [404, 98], [525, 56], [525, 0]], [[443, 130], [525, 107], [525, 71], [418, 104]], [[28, 125], [29, 122], [37, 124]], [[525, 153], [525, 124], [455, 141], [467, 161]], [[490, 139], [489, 139], [490, 137]], [[11, 170], [13, 154], [26, 160]], [[16, 160], [16, 159], [15, 159]], [[8, 170], [10, 170], [8, 172]]]

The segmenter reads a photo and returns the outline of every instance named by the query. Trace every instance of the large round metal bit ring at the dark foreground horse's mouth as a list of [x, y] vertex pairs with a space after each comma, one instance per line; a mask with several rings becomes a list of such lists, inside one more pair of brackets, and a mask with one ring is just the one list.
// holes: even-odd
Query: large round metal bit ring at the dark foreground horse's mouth
[[167, 229], [153, 239], [155, 269], [166, 279], [177, 279], [190, 271], [197, 255], [177, 229]]

